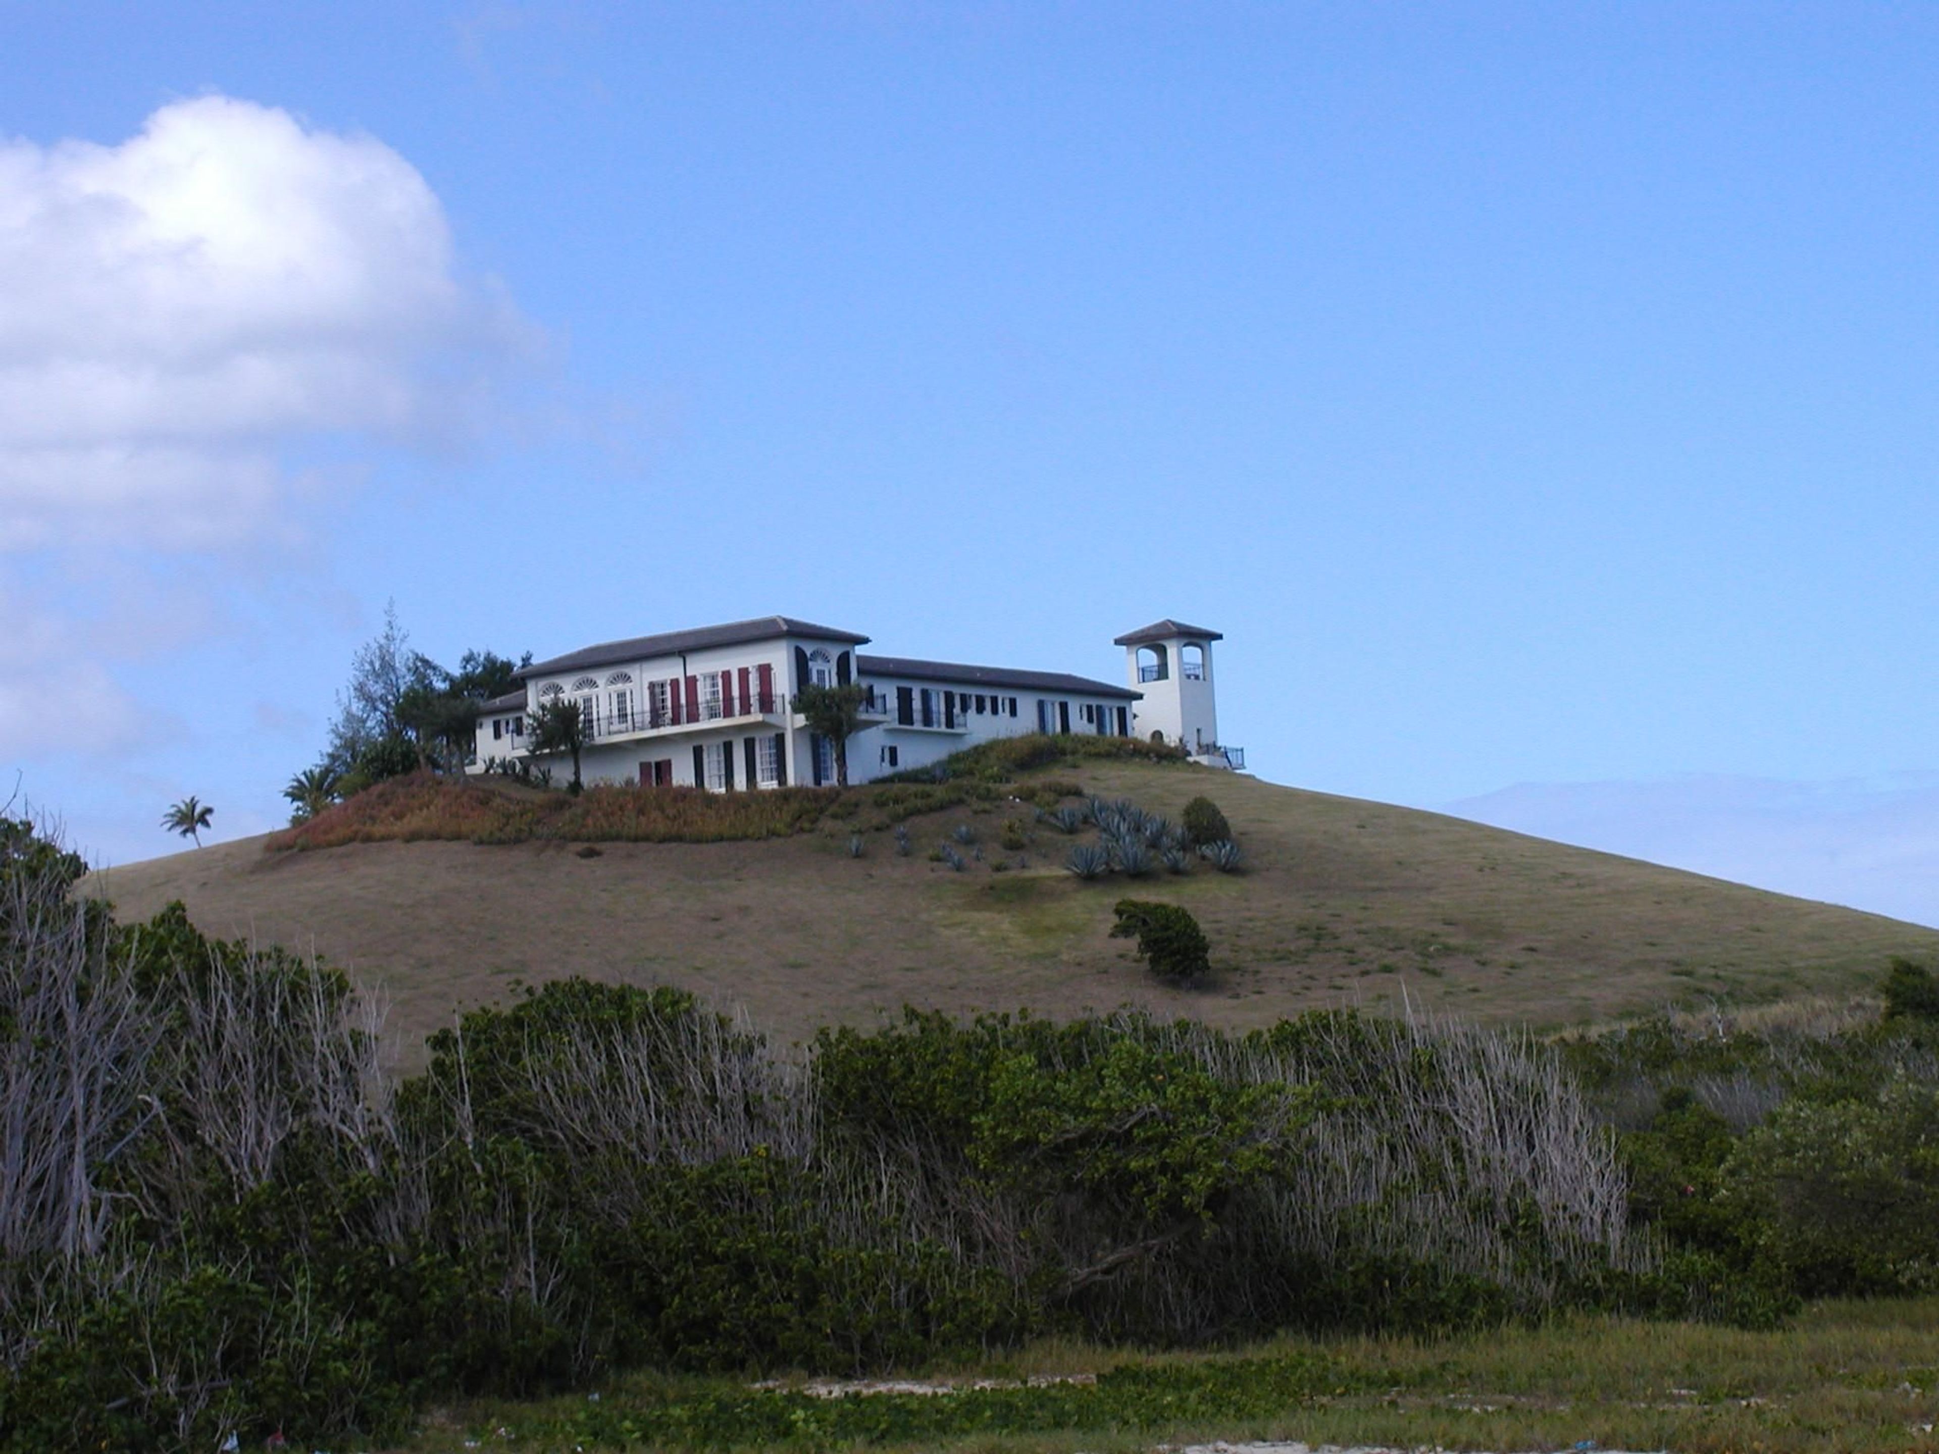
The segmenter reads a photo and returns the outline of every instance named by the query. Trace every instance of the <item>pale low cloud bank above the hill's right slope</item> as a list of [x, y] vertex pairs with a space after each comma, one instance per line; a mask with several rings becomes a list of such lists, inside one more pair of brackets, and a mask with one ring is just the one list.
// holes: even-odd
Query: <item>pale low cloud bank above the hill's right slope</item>
[[1939, 925], [1939, 774], [1520, 783], [1462, 818]]

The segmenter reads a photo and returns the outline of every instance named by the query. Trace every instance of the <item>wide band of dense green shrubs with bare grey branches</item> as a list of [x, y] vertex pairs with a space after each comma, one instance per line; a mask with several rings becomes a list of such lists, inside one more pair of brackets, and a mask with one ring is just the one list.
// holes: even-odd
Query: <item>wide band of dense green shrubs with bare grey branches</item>
[[[0, 832], [0, 1448], [322, 1446], [430, 1400], [1045, 1336], [1768, 1328], [1931, 1285], [1933, 1026], [1877, 1002], [1563, 1047], [909, 1012], [791, 1053], [560, 979], [396, 1076], [341, 975], [180, 909], [116, 925], [79, 869]], [[1255, 1373], [1307, 1400], [1299, 1367]], [[1142, 1429], [1136, 1386], [1070, 1417]]]

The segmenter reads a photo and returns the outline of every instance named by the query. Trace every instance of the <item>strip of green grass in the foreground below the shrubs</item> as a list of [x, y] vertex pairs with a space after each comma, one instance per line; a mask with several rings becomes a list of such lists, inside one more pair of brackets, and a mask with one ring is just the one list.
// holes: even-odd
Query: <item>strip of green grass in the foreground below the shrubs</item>
[[[1472, 1450], [1920, 1450], [1939, 1417], [1939, 1299], [1825, 1303], [1794, 1326], [1573, 1318], [1437, 1342], [1276, 1342], [1163, 1357], [1041, 1345], [944, 1371], [1096, 1382], [816, 1398], [801, 1386], [626, 1378], [446, 1411], [409, 1448], [1130, 1450], [1212, 1438]], [[504, 1429], [510, 1440], [500, 1437]]]

